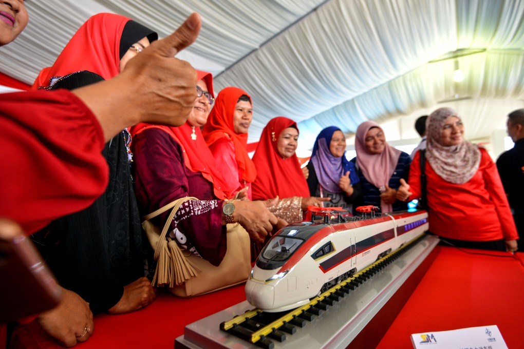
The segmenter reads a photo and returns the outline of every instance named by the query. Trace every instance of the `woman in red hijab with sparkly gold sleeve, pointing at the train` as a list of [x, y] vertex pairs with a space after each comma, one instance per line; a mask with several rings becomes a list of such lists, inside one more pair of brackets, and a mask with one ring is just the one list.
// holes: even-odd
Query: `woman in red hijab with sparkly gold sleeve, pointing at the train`
[[271, 119], [260, 136], [253, 162], [257, 177], [253, 182], [253, 199], [279, 197], [269, 208], [289, 223], [302, 220], [302, 210], [309, 205], [320, 206], [330, 198], [310, 197], [308, 183], [300, 168], [297, 154], [297, 123], [279, 116]]

